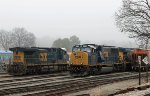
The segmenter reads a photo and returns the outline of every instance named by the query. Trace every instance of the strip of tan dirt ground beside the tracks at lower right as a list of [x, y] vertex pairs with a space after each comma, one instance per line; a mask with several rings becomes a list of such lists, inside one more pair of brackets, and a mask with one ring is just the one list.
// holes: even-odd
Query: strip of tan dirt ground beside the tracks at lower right
[[[142, 79], [142, 84], [145, 84], [145, 82], [146, 82], [145, 79]], [[82, 94], [90, 94], [90, 96], [108, 96], [120, 90], [124, 90], [131, 87], [137, 87], [139, 86], [138, 84], [139, 84], [138, 79], [131, 79], [131, 80], [125, 80], [117, 83], [115, 82], [111, 84], [98, 86], [96, 88], [91, 88], [89, 90], [80, 91], [65, 96], [76, 96]]]

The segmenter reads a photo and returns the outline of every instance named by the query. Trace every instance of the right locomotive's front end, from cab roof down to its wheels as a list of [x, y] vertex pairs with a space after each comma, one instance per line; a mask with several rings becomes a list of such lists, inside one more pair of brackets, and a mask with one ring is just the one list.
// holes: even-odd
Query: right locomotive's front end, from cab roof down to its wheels
[[72, 76], [85, 76], [100, 72], [99, 63], [104, 62], [102, 46], [95, 44], [75, 45], [70, 55], [70, 74]]

